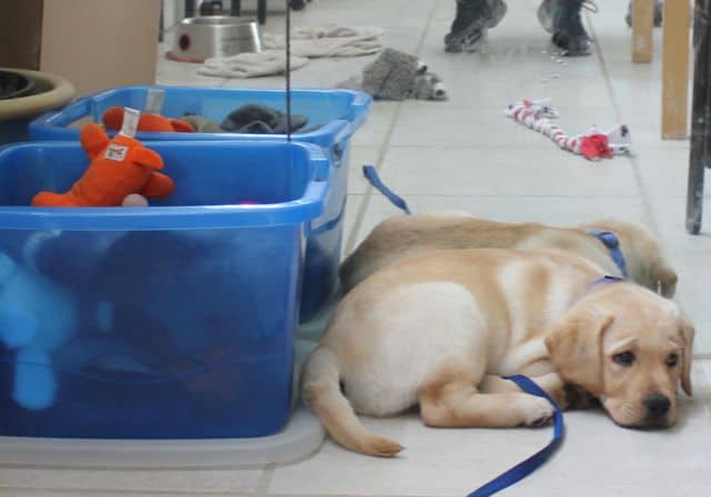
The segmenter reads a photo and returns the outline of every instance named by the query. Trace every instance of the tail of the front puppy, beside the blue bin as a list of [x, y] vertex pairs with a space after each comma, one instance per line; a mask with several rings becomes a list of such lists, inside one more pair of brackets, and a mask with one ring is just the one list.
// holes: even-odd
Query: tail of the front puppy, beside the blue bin
[[328, 433], [343, 447], [378, 457], [392, 457], [402, 446], [369, 432], [358, 419], [353, 407], [340, 388], [340, 373], [333, 354], [318, 347], [304, 367], [303, 399], [326, 426]]

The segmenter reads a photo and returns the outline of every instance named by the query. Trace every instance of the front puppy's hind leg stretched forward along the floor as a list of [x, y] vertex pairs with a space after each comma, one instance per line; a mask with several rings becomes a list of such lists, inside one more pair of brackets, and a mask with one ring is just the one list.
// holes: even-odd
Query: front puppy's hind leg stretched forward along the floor
[[465, 376], [434, 378], [419, 393], [420, 415], [428, 426], [509, 428], [542, 426], [553, 407], [541, 397], [508, 392], [482, 394]]

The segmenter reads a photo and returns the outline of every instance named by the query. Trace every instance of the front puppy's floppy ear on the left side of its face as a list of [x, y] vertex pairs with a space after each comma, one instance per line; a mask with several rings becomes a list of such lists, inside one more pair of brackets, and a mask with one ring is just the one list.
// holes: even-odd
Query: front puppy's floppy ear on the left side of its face
[[589, 308], [571, 311], [545, 337], [551, 362], [562, 378], [593, 397], [603, 393], [602, 336], [614, 317]]

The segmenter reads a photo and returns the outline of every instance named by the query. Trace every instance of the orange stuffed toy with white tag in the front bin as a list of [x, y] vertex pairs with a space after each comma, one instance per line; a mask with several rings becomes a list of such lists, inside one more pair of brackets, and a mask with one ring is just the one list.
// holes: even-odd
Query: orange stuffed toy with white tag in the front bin
[[161, 156], [138, 140], [123, 134], [109, 140], [97, 124], [86, 125], [80, 140], [91, 160], [83, 176], [67, 193], [38, 193], [32, 199], [33, 206], [119, 206], [132, 193], [161, 197], [174, 190], [170, 178], [156, 172], [163, 169]]

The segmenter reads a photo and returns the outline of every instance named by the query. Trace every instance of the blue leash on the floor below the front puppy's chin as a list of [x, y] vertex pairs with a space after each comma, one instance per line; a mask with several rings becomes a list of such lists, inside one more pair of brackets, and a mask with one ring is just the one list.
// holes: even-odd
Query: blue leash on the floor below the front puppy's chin
[[525, 376], [508, 376], [505, 379], [510, 379], [511, 382], [515, 383], [527, 394], [543, 397], [551, 403], [551, 405], [555, 409], [555, 414], [553, 416], [553, 439], [538, 453], [513, 466], [502, 475], [499, 475], [488, 484], [479, 487], [478, 489], [469, 494], [468, 497], [487, 497], [522, 480], [535, 469], [538, 469], [541, 465], [543, 465], [543, 463], [548, 460], [548, 458], [551, 456], [551, 454], [553, 454], [553, 452], [558, 448], [563, 439], [563, 412], [560, 406], [555, 404], [555, 400], [553, 400], [545, 392], [543, 392], [543, 389], [539, 387], [533, 381]]

